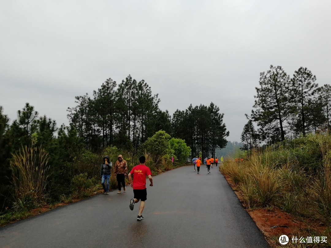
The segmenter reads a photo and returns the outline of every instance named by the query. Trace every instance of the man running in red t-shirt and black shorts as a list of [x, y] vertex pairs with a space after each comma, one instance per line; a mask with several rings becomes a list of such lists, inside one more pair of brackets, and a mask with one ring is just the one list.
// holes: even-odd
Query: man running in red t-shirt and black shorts
[[[133, 188], [133, 198], [130, 200], [130, 209], [133, 210], [134, 204], [140, 200], [139, 213], [137, 216], [137, 221], [143, 220], [144, 217], [141, 215], [144, 207], [145, 201], [147, 200], [147, 189], [146, 189], [146, 176], [150, 181], [151, 187], [153, 187], [153, 179], [151, 170], [145, 165], [145, 156], [139, 157], [139, 164], [132, 168], [128, 174], [130, 186]], [[133, 181], [132, 177], [133, 175]]]

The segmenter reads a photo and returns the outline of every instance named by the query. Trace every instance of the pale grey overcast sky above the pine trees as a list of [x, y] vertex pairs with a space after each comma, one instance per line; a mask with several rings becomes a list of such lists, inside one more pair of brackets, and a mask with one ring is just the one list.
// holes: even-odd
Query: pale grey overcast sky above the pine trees
[[75, 96], [129, 74], [172, 115], [211, 102], [240, 141], [260, 72], [304, 66], [330, 84], [330, 0], [0, 0], [0, 105], [68, 125]]

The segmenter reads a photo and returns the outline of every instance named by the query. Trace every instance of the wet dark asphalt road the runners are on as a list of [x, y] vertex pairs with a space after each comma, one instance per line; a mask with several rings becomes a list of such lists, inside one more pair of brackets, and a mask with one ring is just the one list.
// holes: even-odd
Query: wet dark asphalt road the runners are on
[[142, 221], [127, 187], [0, 227], [0, 247], [269, 247], [218, 167], [197, 175], [184, 166], [153, 181]]

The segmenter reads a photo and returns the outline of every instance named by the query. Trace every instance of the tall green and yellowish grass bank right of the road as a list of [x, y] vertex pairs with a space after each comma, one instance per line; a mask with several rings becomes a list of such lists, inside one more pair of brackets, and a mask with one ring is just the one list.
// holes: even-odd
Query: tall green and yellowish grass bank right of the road
[[277, 206], [331, 227], [330, 135], [253, 151], [243, 163], [225, 161], [220, 170], [239, 186], [248, 207]]

